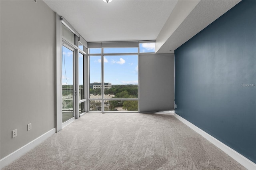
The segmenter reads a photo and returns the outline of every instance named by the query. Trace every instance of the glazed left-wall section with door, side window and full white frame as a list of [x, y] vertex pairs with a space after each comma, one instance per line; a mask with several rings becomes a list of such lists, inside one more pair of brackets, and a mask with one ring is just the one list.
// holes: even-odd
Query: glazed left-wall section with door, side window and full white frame
[[56, 131], [87, 110], [87, 42], [56, 14]]

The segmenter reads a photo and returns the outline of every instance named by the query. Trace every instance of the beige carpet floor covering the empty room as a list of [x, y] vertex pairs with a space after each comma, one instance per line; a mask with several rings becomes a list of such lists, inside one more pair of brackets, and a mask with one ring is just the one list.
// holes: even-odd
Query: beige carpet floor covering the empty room
[[87, 113], [3, 170], [242, 170], [172, 114]]

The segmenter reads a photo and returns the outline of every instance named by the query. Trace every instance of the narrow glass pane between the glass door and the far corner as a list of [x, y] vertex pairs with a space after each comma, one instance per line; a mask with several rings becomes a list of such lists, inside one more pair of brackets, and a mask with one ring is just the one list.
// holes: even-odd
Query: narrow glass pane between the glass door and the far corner
[[78, 83], [79, 83], [79, 91], [78, 91], [78, 99], [84, 99], [84, 55], [79, 53], [78, 55]]

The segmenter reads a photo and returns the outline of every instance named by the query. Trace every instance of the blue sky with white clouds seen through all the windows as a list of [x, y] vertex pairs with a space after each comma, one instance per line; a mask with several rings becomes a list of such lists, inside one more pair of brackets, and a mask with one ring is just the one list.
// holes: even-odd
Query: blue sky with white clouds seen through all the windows
[[[136, 53], [138, 48], [108, 48], [104, 53]], [[154, 43], [140, 43], [140, 52], [154, 52]], [[101, 49], [90, 49], [100, 53]], [[73, 83], [73, 52], [64, 47], [62, 55], [62, 84]], [[79, 84], [82, 83], [83, 59], [79, 55]], [[90, 56], [90, 83], [101, 82], [101, 56]], [[104, 82], [112, 85], [138, 84], [138, 55], [104, 56]]]

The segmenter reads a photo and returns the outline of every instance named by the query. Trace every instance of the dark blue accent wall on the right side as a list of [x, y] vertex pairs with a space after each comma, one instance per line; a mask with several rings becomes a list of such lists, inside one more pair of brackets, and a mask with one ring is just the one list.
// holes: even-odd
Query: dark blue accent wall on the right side
[[175, 50], [175, 113], [256, 163], [256, 1]]

